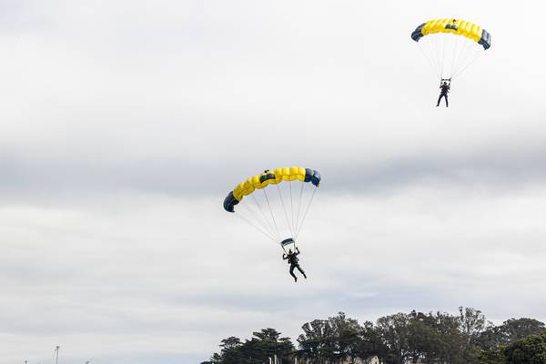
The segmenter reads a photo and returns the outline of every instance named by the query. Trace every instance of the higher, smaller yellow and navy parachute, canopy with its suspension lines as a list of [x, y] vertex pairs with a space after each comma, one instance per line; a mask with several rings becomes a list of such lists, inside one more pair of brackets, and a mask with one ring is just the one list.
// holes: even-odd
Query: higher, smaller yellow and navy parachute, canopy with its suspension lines
[[419, 25], [411, 38], [441, 81], [460, 76], [491, 46], [491, 35], [480, 25], [460, 19], [437, 19]]

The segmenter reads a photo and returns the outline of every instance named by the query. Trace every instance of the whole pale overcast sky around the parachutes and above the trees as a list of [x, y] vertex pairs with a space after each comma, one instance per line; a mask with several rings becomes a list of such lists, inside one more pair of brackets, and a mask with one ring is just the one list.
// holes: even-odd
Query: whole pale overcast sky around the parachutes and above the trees
[[[0, 364], [190, 364], [344, 311], [546, 320], [540, 1], [0, 1]], [[410, 39], [492, 46], [434, 107]], [[223, 210], [319, 170], [295, 284]]]

